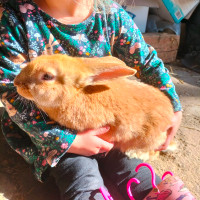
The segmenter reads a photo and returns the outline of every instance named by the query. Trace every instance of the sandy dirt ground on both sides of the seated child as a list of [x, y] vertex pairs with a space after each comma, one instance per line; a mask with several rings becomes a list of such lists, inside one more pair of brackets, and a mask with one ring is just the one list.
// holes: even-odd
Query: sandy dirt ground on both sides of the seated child
[[[200, 74], [182, 68], [178, 62], [166, 67], [180, 95], [183, 121], [176, 136], [178, 149], [162, 154], [151, 164], [159, 175], [174, 172], [200, 199]], [[0, 200], [35, 199], [59, 200], [54, 180], [37, 182], [28, 164], [10, 149], [0, 133]]]

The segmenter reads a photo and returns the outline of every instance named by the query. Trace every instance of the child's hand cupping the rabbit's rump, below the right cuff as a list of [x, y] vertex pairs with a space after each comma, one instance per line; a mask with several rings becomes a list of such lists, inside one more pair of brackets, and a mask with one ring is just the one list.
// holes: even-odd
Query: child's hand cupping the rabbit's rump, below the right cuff
[[181, 124], [182, 119], [182, 112], [178, 111], [174, 113], [174, 117], [172, 119], [172, 124], [167, 129], [167, 139], [165, 140], [165, 143], [162, 144], [157, 150], [162, 151], [166, 150], [174, 136], [176, 135], [177, 130], [179, 129], [179, 126]]

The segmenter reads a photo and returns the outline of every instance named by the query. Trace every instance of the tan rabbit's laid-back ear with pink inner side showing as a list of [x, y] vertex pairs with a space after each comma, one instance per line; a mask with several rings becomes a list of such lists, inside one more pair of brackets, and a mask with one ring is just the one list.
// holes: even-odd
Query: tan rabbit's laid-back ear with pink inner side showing
[[95, 84], [99, 81], [132, 76], [137, 72], [137, 70], [128, 67], [123, 61], [112, 56], [87, 58], [84, 62], [90, 70], [90, 75], [85, 77], [81, 83], [81, 85], [85, 86]]

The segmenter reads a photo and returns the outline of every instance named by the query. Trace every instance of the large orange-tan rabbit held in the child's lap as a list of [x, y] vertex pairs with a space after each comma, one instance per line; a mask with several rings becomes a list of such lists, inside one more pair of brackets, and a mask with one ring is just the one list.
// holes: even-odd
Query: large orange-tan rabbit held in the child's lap
[[148, 154], [149, 159], [164, 143], [174, 112], [158, 88], [127, 78], [135, 73], [113, 56], [41, 55], [21, 70], [14, 85], [60, 125], [79, 132], [109, 125], [101, 138], [132, 157]]

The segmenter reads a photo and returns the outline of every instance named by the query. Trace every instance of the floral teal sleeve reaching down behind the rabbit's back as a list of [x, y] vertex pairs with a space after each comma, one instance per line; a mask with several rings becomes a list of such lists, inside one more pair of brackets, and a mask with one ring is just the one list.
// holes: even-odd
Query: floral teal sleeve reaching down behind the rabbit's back
[[122, 59], [138, 72], [141, 81], [158, 87], [171, 100], [174, 111], [181, 110], [179, 97], [168, 74], [167, 68], [153, 47], [146, 44], [132, 18], [122, 8], [119, 9], [118, 36], [113, 47], [114, 55]]

